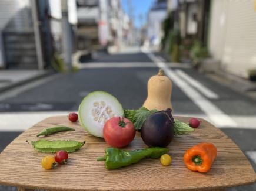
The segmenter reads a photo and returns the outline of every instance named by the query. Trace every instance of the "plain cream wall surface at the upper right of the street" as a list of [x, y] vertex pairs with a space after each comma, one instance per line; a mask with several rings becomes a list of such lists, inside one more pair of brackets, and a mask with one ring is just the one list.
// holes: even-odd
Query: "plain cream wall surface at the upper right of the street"
[[248, 77], [248, 69], [256, 68], [254, 0], [211, 1], [208, 48], [223, 70]]

